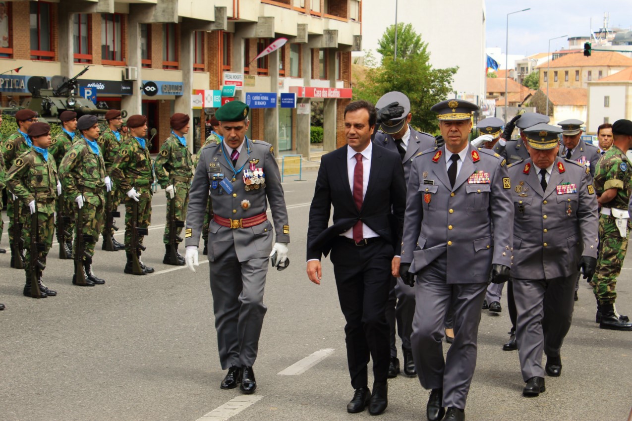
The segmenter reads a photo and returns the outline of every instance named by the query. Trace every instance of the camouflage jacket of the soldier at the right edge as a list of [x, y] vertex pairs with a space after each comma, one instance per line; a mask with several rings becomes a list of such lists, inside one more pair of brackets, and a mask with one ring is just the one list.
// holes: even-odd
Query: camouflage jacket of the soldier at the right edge
[[597, 194], [612, 188], [617, 195], [604, 204], [605, 208], [628, 209], [630, 190], [632, 189], [632, 168], [626, 154], [617, 146], [607, 150], [597, 162], [595, 168], [595, 190]]

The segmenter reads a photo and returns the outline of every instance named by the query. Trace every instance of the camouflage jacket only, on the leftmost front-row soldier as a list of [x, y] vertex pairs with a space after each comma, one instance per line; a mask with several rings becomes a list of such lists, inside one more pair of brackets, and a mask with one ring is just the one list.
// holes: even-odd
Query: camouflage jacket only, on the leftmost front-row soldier
[[55, 213], [57, 198], [57, 166], [52, 155], [44, 160], [42, 154], [32, 149], [15, 159], [6, 174], [6, 185], [25, 206], [35, 200], [37, 211]]

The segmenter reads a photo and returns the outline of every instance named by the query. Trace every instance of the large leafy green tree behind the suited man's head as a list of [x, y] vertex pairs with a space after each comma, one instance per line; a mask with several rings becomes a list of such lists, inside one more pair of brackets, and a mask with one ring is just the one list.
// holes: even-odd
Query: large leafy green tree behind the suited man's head
[[394, 45], [394, 25], [391, 25], [379, 40], [378, 52], [382, 54], [382, 64], [358, 82], [353, 90], [353, 99], [375, 104], [386, 92], [403, 92], [410, 99], [411, 125], [433, 133], [439, 124], [430, 107], [452, 96], [451, 85], [458, 68], [432, 68], [428, 44], [422, 42], [410, 24], [398, 25], [401, 27], [398, 29], [397, 60], [393, 59], [392, 47], [389, 49], [389, 45]]

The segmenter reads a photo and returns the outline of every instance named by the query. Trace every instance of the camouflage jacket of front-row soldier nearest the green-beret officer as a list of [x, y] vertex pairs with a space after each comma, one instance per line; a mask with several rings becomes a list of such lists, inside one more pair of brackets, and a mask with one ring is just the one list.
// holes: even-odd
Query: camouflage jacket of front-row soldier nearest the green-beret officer
[[[164, 189], [169, 181], [190, 183], [193, 178], [193, 158], [191, 152], [171, 134], [162, 144], [155, 160], [154, 169], [159, 184]], [[167, 173], [169, 173], [167, 175]]]

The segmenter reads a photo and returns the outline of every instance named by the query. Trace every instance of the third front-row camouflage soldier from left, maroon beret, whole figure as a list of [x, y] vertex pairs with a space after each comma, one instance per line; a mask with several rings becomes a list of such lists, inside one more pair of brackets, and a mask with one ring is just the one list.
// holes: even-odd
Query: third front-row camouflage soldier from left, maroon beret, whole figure
[[[130, 128], [130, 139], [121, 144], [114, 163], [112, 164], [112, 179], [116, 179], [121, 192], [125, 192], [125, 252], [127, 264], [125, 273], [133, 273], [132, 268], [132, 244], [131, 244], [131, 218], [132, 203], [138, 202], [139, 228], [149, 227], [152, 216], [152, 160], [149, 156], [149, 145], [146, 144], [147, 118], [136, 114], [127, 119]], [[140, 235], [140, 244], [143, 235]], [[138, 250], [140, 260], [141, 250]], [[146, 266], [142, 261], [140, 267], [145, 273], [153, 273], [154, 268]]]

